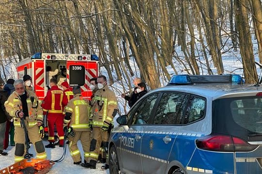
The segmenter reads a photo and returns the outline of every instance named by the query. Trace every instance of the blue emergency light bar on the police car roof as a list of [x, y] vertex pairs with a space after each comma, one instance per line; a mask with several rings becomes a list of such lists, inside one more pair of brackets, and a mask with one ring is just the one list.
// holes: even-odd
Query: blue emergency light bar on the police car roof
[[243, 84], [244, 79], [237, 74], [228, 75], [173, 75], [168, 85], [193, 85], [193, 84], [211, 84], [211, 83], [231, 83]]

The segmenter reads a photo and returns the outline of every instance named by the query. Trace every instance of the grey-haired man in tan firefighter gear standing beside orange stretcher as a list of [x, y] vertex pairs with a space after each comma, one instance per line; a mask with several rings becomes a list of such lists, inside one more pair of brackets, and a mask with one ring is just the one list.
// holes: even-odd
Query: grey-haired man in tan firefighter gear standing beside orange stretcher
[[15, 125], [15, 161], [24, 159], [25, 131], [21, 126], [24, 119], [30, 141], [33, 143], [37, 159], [46, 159], [47, 154], [44, 144], [39, 135], [39, 126], [43, 123], [43, 111], [40, 101], [34, 92], [25, 89], [24, 81], [19, 79], [14, 82], [15, 92], [4, 103], [6, 111], [13, 117]]

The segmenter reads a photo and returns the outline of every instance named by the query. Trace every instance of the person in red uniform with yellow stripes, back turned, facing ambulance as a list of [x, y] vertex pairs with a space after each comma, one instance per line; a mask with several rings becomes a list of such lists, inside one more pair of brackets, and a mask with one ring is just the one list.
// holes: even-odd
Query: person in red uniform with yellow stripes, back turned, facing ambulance
[[55, 138], [54, 138], [54, 125], [56, 125], [56, 130], [59, 137], [59, 147], [64, 145], [64, 131], [63, 131], [63, 90], [57, 86], [56, 78], [50, 80], [51, 89], [48, 90], [46, 97], [44, 98], [42, 107], [44, 115], [47, 114], [48, 120], [48, 141], [49, 145], [46, 148], [55, 148]]

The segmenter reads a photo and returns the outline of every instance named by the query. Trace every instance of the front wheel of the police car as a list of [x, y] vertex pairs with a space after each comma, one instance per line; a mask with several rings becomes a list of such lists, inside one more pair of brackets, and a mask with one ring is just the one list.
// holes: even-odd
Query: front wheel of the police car
[[109, 151], [109, 173], [120, 174], [118, 158], [114, 145], [110, 148]]

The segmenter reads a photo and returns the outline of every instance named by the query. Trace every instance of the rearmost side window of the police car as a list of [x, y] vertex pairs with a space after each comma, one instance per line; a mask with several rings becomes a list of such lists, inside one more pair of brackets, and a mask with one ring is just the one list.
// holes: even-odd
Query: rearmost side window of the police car
[[192, 123], [204, 117], [206, 101], [197, 96], [190, 96], [183, 124]]

